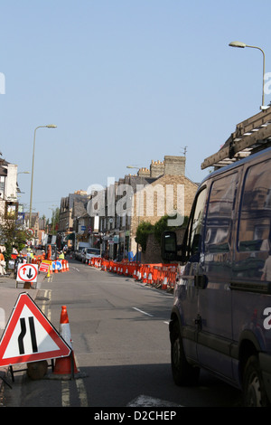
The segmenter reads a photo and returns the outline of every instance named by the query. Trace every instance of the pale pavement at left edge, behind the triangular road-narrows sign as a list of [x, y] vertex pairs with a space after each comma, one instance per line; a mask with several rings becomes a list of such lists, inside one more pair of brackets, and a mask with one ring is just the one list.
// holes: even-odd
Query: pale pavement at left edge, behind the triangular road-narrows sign
[[[0, 338], [2, 337], [5, 326], [11, 316], [14, 306], [16, 304], [17, 298], [22, 292], [27, 292], [30, 297], [35, 300], [39, 289], [41, 288], [42, 281], [45, 279], [46, 273], [38, 274], [37, 284], [35, 288], [23, 288], [23, 283], [18, 283], [18, 288], [16, 288], [16, 280], [14, 279], [14, 273], [11, 272], [10, 276], [0, 276]], [[4, 378], [8, 372], [8, 366], [0, 367], [0, 378]], [[4, 381], [0, 379], [0, 392], [2, 389]]]

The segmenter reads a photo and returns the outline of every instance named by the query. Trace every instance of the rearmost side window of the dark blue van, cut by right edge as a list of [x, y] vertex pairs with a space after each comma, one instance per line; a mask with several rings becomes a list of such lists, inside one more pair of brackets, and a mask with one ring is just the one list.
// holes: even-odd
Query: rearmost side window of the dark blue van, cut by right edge
[[271, 161], [248, 168], [238, 223], [238, 250], [269, 250], [271, 223]]

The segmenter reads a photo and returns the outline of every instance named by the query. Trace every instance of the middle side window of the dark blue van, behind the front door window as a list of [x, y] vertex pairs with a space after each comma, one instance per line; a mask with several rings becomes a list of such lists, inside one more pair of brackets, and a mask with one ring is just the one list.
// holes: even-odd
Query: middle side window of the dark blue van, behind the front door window
[[211, 184], [206, 218], [206, 252], [229, 251], [237, 179], [238, 173], [234, 173]]

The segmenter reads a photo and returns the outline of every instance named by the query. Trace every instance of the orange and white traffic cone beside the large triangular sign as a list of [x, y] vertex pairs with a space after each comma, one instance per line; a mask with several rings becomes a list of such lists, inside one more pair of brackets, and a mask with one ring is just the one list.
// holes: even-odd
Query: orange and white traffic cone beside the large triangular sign
[[66, 306], [62, 306], [62, 310], [61, 310], [60, 334], [62, 338], [66, 341], [66, 343], [70, 345], [71, 353], [70, 353], [70, 356], [68, 357], [60, 357], [56, 359], [54, 369], [53, 369], [53, 374], [73, 376], [74, 373], [79, 373], [79, 371], [76, 367], [74, 354], [72, 350], [71, 336], [70, 336], [70, 323], [69, 323], [69, 317], [68, 317]]

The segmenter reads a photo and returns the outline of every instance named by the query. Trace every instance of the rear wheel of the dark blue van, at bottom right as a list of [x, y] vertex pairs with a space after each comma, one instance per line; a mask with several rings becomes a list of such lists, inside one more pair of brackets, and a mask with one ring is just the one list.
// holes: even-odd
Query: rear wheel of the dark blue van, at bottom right
[[256, 355], [248, 358], [248, 363], [245, 367], [243, 397], [244, 406], [246, 407], [269, 406], [265, 384]]

